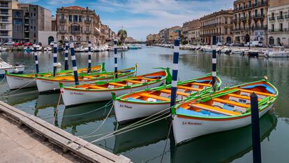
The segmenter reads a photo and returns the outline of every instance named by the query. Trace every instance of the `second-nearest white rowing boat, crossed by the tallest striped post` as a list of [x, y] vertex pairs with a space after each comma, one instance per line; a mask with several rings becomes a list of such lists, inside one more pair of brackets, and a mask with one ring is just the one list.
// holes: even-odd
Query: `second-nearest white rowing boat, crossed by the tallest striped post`
[[[185, 80], [177, 83], [177, 102], [183, 101], [201, 92], [212, 90], [212, 74], [209, 73], [204, 77]], [[221, 79], [217, 78], [220, 87]], [[144, 118], [153, 115], [165, 108], [170, 107], [171, 85], [164, 85], [150, 90], [142, 90], [125, 94], [121, 97], [114, 97], [114, 112], [117, 122], [124, 123], [137, 118]]]

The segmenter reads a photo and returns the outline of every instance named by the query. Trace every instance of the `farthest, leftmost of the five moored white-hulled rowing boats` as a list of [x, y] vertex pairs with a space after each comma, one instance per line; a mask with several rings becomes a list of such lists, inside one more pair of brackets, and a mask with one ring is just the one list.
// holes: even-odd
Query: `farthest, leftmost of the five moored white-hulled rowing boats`
[[[91, 71], [93, 73], [99, 71], [105, 71], [104, 63], [102, 65], [92, 66]], [[87, 73], [87, 68], [82, 68], [77, 70], [78, 73]], [[57, 76], [66, 76], [67, 74], [72, 74], [73, 70], [63, 70], [57, 72]], [[28, 74], [14, 74], [6, 73], [7, 83], [10, 90], [15, 90], [24, 87], [36, 87], [36, 77], [50, 77], [53, 76], [52, 72], [47, 73], [28, 73]]]

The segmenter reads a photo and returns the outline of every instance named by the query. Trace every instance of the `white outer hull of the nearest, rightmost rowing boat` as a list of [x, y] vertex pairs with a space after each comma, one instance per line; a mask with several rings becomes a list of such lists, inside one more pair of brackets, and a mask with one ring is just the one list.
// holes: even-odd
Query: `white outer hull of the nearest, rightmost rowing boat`
[[[259, 117], [262, 117], [262, 115], [267, 113], [272, 106], [273, 104], [262, 109], [259, 113]], [[175, 115], [172, 120], [176, 144], [194, 139], [198, 136], [237, 129], [250, 124], [251, 114], [240, 118], [223, 118], [218, 120], [206, 118], [183, 118], [180, 115]]]

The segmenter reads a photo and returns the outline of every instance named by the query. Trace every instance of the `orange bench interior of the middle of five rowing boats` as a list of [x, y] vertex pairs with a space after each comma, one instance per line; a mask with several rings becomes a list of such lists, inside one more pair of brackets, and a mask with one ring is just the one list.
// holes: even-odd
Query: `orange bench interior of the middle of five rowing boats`
[[71, 88], [82, 88], [85, 90], [107, 90], [107, 89], [113, 89], [118, 87], [124, 87], [127, 85], [138, 85], [140, 83], [149, 83], [153, 82], [155, 80], [164, 78], [166, 76], [165, 71], [159, 71], [156, 73], [149, 73], [143, 76], [135, 76], [133, 78], [127, 78], [121, 81], [117, 82], [111, 82], [111, 83], [105, 83], [105, 84], [87, 84], [87, 85], [77, 85]]

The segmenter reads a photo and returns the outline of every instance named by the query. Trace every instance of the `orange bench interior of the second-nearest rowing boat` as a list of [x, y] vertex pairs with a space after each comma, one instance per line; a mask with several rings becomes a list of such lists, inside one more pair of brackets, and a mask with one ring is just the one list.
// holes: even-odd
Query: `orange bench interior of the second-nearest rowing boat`
[[[212, 80], [212, 76], [199, 78], [198, 80]], [[195, 80], [191, 83], [184, 83], [177, 86], [177, 99], [186, 99], [194, 92], [212, 87], [211, 81], [197, 83]], [[121, 97], [121, 99], [140, 99], [142, 101], [170, 101], [171, 88], [163, 88], [162, 90], [149, 90], [142, 92], [135, 92]]]

